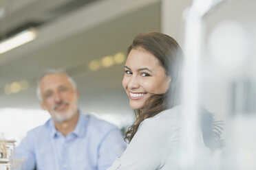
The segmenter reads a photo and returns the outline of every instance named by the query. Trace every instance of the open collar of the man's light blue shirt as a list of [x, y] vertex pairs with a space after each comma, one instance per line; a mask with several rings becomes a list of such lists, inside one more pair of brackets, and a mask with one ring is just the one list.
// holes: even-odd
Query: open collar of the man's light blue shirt
[[[81, 137], [81, 136], [85, 135], [85, 132], [87, 130], [87, 125], [89, 122], [89, 117], [85, 116], [80, 110], [78, 110], [78, 114], [79, 114], [79, 117], [78, 117], [78, 121], [76, 123], [76, 127], [75, 127], [74, 131], [71, 132], [70, 134], [74, 134], [78, 137]], [[54, 121], [52, 119], [50, 119], [49, 124], [50, 124], [50, 131], [51, 131], [52, 138], [61, 135], [61, 132], [58, 132], [58, 130], [56, 130]]]

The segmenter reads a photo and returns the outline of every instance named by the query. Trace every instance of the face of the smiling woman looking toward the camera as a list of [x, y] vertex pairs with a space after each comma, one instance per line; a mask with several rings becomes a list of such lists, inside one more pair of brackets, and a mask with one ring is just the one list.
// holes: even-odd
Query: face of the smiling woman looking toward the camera
[[170, 82], [171, 77], [153, 54], [142, 48], [131, 49], [122, 80], [131, 108], [140, 109], [151, 95], [166, 93]]

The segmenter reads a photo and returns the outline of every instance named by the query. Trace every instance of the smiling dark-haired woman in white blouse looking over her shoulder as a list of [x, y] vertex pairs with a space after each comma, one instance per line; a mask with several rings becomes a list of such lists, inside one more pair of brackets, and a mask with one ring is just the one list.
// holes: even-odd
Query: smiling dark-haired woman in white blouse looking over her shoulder
[[[149, 32], [136, 36], [127, 51], [122, 86], [136, 112], [136, 121], [125, 134], [127, 149], [108, 170], [180, 169], [181, 122], [187, 118], [179, 105], [182, 49], [170, 36]], [[218, 132], [213, 133], [211, 114], [203, 112], [202, 122], [208, 121], [204, 127], [198, 124], [198, 136], [203, 136], [198, 137], [198, 145], [204, 148], [202, 153], [209, 153], [209, 148], [220, 145], [212, 140]], [[210, 136], [208, 141], [206, 136]]]

